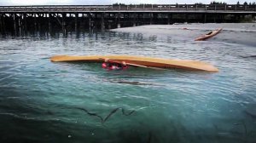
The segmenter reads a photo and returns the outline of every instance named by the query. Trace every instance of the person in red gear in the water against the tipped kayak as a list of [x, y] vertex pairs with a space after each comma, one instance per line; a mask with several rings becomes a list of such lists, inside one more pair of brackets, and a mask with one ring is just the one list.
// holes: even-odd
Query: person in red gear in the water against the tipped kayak
[[122, 61], [122, 63], [117, 63], [109, 59], [105, 59], [102, 63], [102, 68], [108, 69], [108, 70], [124, 70], [128, 68], [125, 61]]

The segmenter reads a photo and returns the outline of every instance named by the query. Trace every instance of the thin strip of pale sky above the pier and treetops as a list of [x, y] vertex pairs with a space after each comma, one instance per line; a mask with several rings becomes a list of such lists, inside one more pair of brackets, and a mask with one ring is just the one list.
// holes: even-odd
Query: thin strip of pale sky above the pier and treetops
[[[101, 4], [113, 4], [113, 3], [125, 3], [125, 4], [193, 4], [193, 3], [211, 3], [214, 0], [0, 0], [0, 5], [101, 5]], [[215, 2], [224, 2], [228, 4], [239, 3], [253, 3], [255, 0], [215, 0]]]

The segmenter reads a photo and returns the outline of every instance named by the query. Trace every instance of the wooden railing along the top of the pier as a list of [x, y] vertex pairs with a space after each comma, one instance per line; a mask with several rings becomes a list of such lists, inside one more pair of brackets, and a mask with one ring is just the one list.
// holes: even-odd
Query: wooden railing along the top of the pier
[[139, 4], [139, 5], [33, 5], [0, 6], [0, 12], [101, 12], [101, 11], [222, 11], [253, 12], [256, 5], [237, 4]]

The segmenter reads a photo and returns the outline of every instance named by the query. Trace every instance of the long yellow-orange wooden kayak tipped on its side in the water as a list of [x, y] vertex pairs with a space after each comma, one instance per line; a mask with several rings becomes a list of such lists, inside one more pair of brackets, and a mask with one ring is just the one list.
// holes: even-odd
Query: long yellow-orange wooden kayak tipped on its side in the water
[[82, 62], [102, 62], [102, 59], [111, 59], [125, 61], [134, 65], [159, 67], [159, 68], [176, 68], [191, 71], [218, 72], [218, 68], [199, 60], [169, 60], [152, 58], [135, 55], [86, 55], [86, 56], [70, 56], [56, 55], [50, 58], [51, 61], [82, 61]]

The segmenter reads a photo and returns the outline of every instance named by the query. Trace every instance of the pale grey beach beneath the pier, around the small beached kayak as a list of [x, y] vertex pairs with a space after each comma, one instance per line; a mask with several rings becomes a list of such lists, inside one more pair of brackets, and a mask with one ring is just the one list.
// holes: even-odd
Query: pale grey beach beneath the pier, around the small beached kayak
[[256, 46], [256, 23], [192, 23], [178, 25], [146, 25], [113, 29], [110, 31], [141, 33], [145, 37], [172, 37], [179, 40], [194, 41], [195, 37], [206, 34], [209, 31], [223, 28], [213, 39], [218, 42], [241, 43]]

